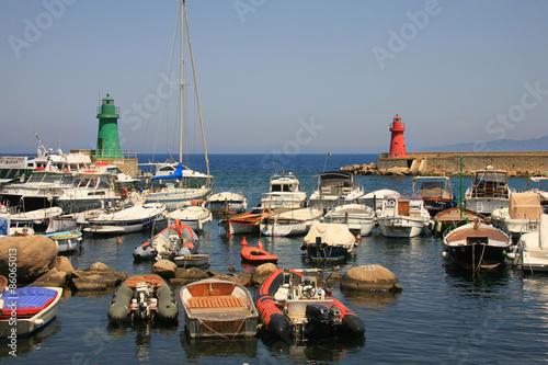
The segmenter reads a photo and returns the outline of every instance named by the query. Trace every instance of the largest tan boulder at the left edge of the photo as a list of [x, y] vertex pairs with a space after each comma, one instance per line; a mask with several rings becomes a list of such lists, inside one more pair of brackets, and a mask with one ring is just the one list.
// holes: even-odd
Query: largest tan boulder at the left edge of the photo
[[18, 284], [30, 284], [54, 266], [58, 252], [55, 241], [44, 236], [2, 238], [0, 275], [8, 277], [10, 267], [16, 267]]

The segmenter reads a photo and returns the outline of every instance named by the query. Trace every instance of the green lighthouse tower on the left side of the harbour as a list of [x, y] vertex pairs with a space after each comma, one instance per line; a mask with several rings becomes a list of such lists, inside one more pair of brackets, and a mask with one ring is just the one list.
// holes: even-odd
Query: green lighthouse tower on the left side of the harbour
[[100, 158], [122, 158], [118, 138], [119, 109], [114, 106], [114, 99], [109, 94], [103, 104], [98, 106], [99, 133], [96, 156]]

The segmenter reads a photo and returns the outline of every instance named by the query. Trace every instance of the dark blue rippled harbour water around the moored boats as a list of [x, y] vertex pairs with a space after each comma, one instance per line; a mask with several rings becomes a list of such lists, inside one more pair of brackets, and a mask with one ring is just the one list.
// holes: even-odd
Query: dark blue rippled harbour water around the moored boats
[[[144, 161], [148, 156], [141, 157]], [[214, 155], [209, 157], [217, 191], [244, 193], [249, 207], [269, 189], [274, 171], [292, 171], [308, 194], [313, 175], [352, 163], [369, 163], [374, 155]], [[198, 158], [191, 168], [205, 171]], [[392, 189], [411, 192], [409, 176], [356, 176], [365, 192]], [[458, 195], [459, 179], [452, 180]], [[513, 179], [523, 189], [526, 179]], [[464, 189], [470, 179], [464, 179]], [[228, 273], [251, 270], [240, 261], [240, 236], [226, 238], [218, 218], [199, 235], [201, 252], [212, 255], [209, 269]], [[149, 273], [152, 263], [134, 263], [133, 249], [150, 236], [137, 232], [116, 237], [85, 236], [80, 252], [69, 256], [77, 270], [103, 262], [128, 275]], [[254, 244], [259, 237], [247, 237]], [[277, 254], [281, 267], [313, 267], [300, 250], [301, 237], [262, 238], [266, 250]], [[176, 327], [109, 327], [106, 308], [111, 294], [66, 293], [55, 321], [28, 339], [19, 339], [18, 356], [8, 354], [0, 340], [2, 364], [517, 364], [548, 361], [548, 276], [515, 271], [510, 265], [493, 272], [471, 273], [454, 269], [442, 259], [439, 239], [423, 235], [389, 239], [375, 229], [363, 237], [351, 259], [324, 266], [327, 275], [349, 269], [380, 264], [399, 278], [403, 292], [391, 294], [341, 293], [333, 295], [366, 323], [365, 339], [353, 342], [326, 340], [287, 344], [276, 339], [187, 341], [180, 306]], [[326, 276], [327, 276], [326, 275]]]

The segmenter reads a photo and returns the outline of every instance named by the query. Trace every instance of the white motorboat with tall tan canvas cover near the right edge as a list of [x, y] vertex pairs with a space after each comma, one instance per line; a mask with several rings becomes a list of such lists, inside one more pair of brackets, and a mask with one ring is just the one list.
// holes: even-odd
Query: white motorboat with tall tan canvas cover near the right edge
[[[509, 207], [494, 209], [491, 213], [491, 220], [493, 226], [518, 239], [521, 233], [538, 229], [538, 219], [543, 210], [538, 194], [513, 193], [510, 195]], [[523, 230], [524, 226], [527, 227], [526, 231]]]

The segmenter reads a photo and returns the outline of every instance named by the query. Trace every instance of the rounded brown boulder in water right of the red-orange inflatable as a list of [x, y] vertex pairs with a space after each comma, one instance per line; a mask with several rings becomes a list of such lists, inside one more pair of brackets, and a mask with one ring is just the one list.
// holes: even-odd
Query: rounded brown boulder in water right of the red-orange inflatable
[[351, 290], [401, 292], [398, 277], [381, 265], [363, 265], [349, 270], [341, 280], [341, 286]]

